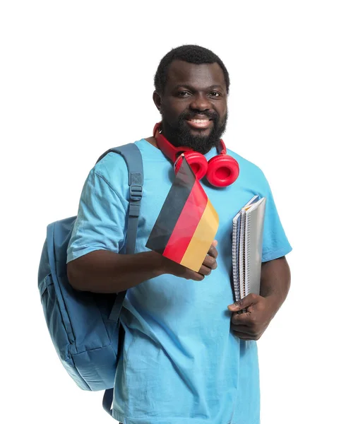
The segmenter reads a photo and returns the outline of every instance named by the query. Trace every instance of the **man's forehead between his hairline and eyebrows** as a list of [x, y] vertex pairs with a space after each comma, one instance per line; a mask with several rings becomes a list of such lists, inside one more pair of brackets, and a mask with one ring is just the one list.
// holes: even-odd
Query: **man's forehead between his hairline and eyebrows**
[[222, 86], [226, 88], [225, 76], [219, 64], [189, 64], [186, 61], [174, 60], [167, 71], [166, 88], [178, 85], [208, 88]]

